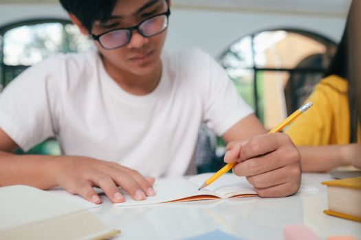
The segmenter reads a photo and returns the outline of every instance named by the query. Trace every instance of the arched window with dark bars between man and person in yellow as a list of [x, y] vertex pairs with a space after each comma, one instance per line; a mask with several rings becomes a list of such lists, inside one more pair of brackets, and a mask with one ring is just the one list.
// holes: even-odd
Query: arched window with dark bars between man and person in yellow
[[336, 50], [329, 38], [296, 29], [244, 36], [219, 56], [265, 128], [296, 110], [322, 78]]

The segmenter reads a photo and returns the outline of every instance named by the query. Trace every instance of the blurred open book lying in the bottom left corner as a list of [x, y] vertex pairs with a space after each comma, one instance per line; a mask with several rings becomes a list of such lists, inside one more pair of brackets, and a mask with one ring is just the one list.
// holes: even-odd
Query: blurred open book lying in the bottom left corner
[[0, 187], [0, 239], [105, 239], [106, 228], [93, 213], [29, 186]]

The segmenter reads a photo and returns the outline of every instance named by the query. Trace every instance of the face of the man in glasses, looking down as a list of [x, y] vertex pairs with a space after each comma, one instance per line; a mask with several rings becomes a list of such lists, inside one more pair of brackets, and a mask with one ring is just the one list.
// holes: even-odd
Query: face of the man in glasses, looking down
[[[111, 20], [107, 23], [94, 23], [91, 34], [102, 34], [112, 29], [133, 27], [145, 19], [166, 12], [168, 6], [164, 0], [118, 0]], [[135, 75], [154, 73], [160, 66], [160, 53], [166, 38], [166, 31], [146, 38], [133, 31], [127, 45], [118, 49], [104, 49], [98, 41], [94, 41], [98, 51], [118, 72], [124, 71]]]

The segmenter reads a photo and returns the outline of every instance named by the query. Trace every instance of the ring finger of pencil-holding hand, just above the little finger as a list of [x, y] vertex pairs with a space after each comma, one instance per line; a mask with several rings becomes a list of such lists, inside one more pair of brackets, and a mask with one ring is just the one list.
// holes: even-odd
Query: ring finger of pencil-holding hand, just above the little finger
[[296, 178], [296, 176], [300, 176], [300, 167], [298, 165], [287, 165], [274, 171], [248, 176], [247, 180], [256, 189], [265, 189], [285, 182], [298, 182], [300, 178]]

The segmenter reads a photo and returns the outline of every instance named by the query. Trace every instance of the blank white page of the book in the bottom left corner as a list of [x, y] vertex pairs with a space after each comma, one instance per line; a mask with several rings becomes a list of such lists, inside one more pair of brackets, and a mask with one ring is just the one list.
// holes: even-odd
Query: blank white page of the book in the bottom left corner
[[34, 187], [0, 187], [0, 231], [84, 210]]

